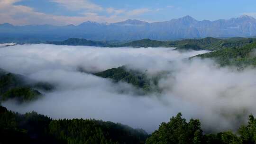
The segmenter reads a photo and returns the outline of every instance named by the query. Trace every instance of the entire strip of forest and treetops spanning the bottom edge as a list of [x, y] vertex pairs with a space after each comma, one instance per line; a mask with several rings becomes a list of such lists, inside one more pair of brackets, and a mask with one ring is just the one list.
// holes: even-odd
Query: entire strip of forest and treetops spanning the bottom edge
[[30, 112], [18, 114], [0, 106], [0, 144], [255, 144], [256, 118], [231, 131], [205, 134], [199, 119], [178, 113], [151, 135], [119, 123], [95, 119], [59, 119]]

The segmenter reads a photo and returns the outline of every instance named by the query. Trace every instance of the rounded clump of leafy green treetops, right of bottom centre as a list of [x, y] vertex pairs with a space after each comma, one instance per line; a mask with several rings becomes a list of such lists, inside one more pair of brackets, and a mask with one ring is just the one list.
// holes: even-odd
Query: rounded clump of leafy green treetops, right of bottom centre
[[199, 120], [189, 123], [178, 113], [168, 123], [162, 123], [146, 140], [146, 144], [201, 144], [203, 135]]

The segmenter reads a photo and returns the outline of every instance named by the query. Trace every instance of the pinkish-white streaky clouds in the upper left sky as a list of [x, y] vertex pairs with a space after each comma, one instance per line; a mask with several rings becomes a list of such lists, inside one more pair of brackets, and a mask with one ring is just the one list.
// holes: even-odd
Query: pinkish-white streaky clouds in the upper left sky
[[[51, 24], [64, 26], [68, 24], [78, 25], [84, 21], [96, 21], [96, 22], [119, 22], [121, 20], [128, 19], [131, 16], [140, 15], [149, 9], [114, 9], [103, 8], [88, 0], [53, 0], [59, 3], [61, 6], [69, 8], [69, 10], [79, 10], [81, 16], [60, 16], [46, 14], [43, 12], [37, 12], [23, 5], [14, 5], [14, 3], [20, 0], [2, 0], [0, 1], [0, 23], [11, 23], [14, 25], [43, 25]], [[82, 11], [82, 12], [81, 12]], [[100, 14], [100, 12], [106, 12], [109, 15]]]

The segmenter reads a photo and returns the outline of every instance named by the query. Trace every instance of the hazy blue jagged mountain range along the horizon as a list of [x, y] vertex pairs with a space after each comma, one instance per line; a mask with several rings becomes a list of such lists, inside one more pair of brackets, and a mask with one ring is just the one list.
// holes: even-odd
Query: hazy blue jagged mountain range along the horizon
[[256, 36], [256, 19], [242, 15], [238, 18], [199, 21], [190, 16], [185, 16], [169, 21], [152, 23], [137, 19], [128, 19], [117, 23], [87, 21], [77, 26], [13, 26], [9, 23], [0, 24], [0, 42], [60, 41], [72, 37], [100, 41], [127, 41], [144, 38], [172, 40], [204, 38], [208, 36]]

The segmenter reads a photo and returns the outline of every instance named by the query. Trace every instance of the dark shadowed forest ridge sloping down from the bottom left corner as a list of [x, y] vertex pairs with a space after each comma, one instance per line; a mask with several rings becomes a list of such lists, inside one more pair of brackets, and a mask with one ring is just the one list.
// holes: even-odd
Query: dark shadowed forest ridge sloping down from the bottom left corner
[[144, 130], [94, 119], [52, 120], [0, 106], [0, 144], [144, 144]]

